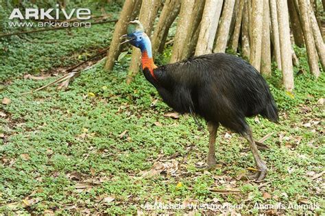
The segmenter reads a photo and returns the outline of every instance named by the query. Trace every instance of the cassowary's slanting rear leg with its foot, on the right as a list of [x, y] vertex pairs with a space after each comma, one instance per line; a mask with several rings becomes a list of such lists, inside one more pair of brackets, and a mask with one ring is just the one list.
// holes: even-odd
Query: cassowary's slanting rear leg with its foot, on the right
[[248, 143], [250, 144], [250, 150], [252, 151], [256, 163], [256, 168], [258, 170], [256, 174], [250, 176], [250, 178], [255, 178], [256, 180], [261, 181], [265, 178], [265, 175], [267, 173], [267, 167], [261, 159], [260, 154], [258, 153], [256, 143], [253, 139], [252, 130], [248, 128], [248, 131], [243, 136], [245, 137], [245, 139], [248, 140]]

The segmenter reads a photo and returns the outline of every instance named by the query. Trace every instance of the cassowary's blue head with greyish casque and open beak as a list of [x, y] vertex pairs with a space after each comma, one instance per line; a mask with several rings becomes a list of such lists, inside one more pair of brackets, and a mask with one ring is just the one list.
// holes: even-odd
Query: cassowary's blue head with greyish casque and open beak
[[121, 36], [121, 39], [126, 39], [123, 43], [130, 43], [134, 47], [138, 47], [141, 51], [151, 49], [150, 39], [145, 34], [143, 25], [139, 21], [131, 21], [128, 24], [127, 34]]

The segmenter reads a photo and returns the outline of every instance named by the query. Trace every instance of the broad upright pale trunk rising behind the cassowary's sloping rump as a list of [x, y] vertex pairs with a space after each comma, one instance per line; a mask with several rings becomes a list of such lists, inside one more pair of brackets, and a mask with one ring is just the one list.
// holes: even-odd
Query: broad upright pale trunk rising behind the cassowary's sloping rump
[[263, 27], [263, 1], [252, 1], [252, 44], [250, 47], [250, 64], [261, 71], [261, 47]]

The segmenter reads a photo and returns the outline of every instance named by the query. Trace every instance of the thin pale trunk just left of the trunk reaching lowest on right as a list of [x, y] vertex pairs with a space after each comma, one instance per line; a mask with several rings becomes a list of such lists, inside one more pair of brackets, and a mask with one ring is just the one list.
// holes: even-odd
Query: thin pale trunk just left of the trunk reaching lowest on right
[[269, 0], [269, 9], [271, 12], [271, 25], [272, 25], [272, 41], [274, 47], [274, 58], [278, 69], [281, 70], [281, 53], [280, 53], [280, 38], [279, 38], [279, 27], [278, 27], [278, 14], [276, 8], [276, 0]]

